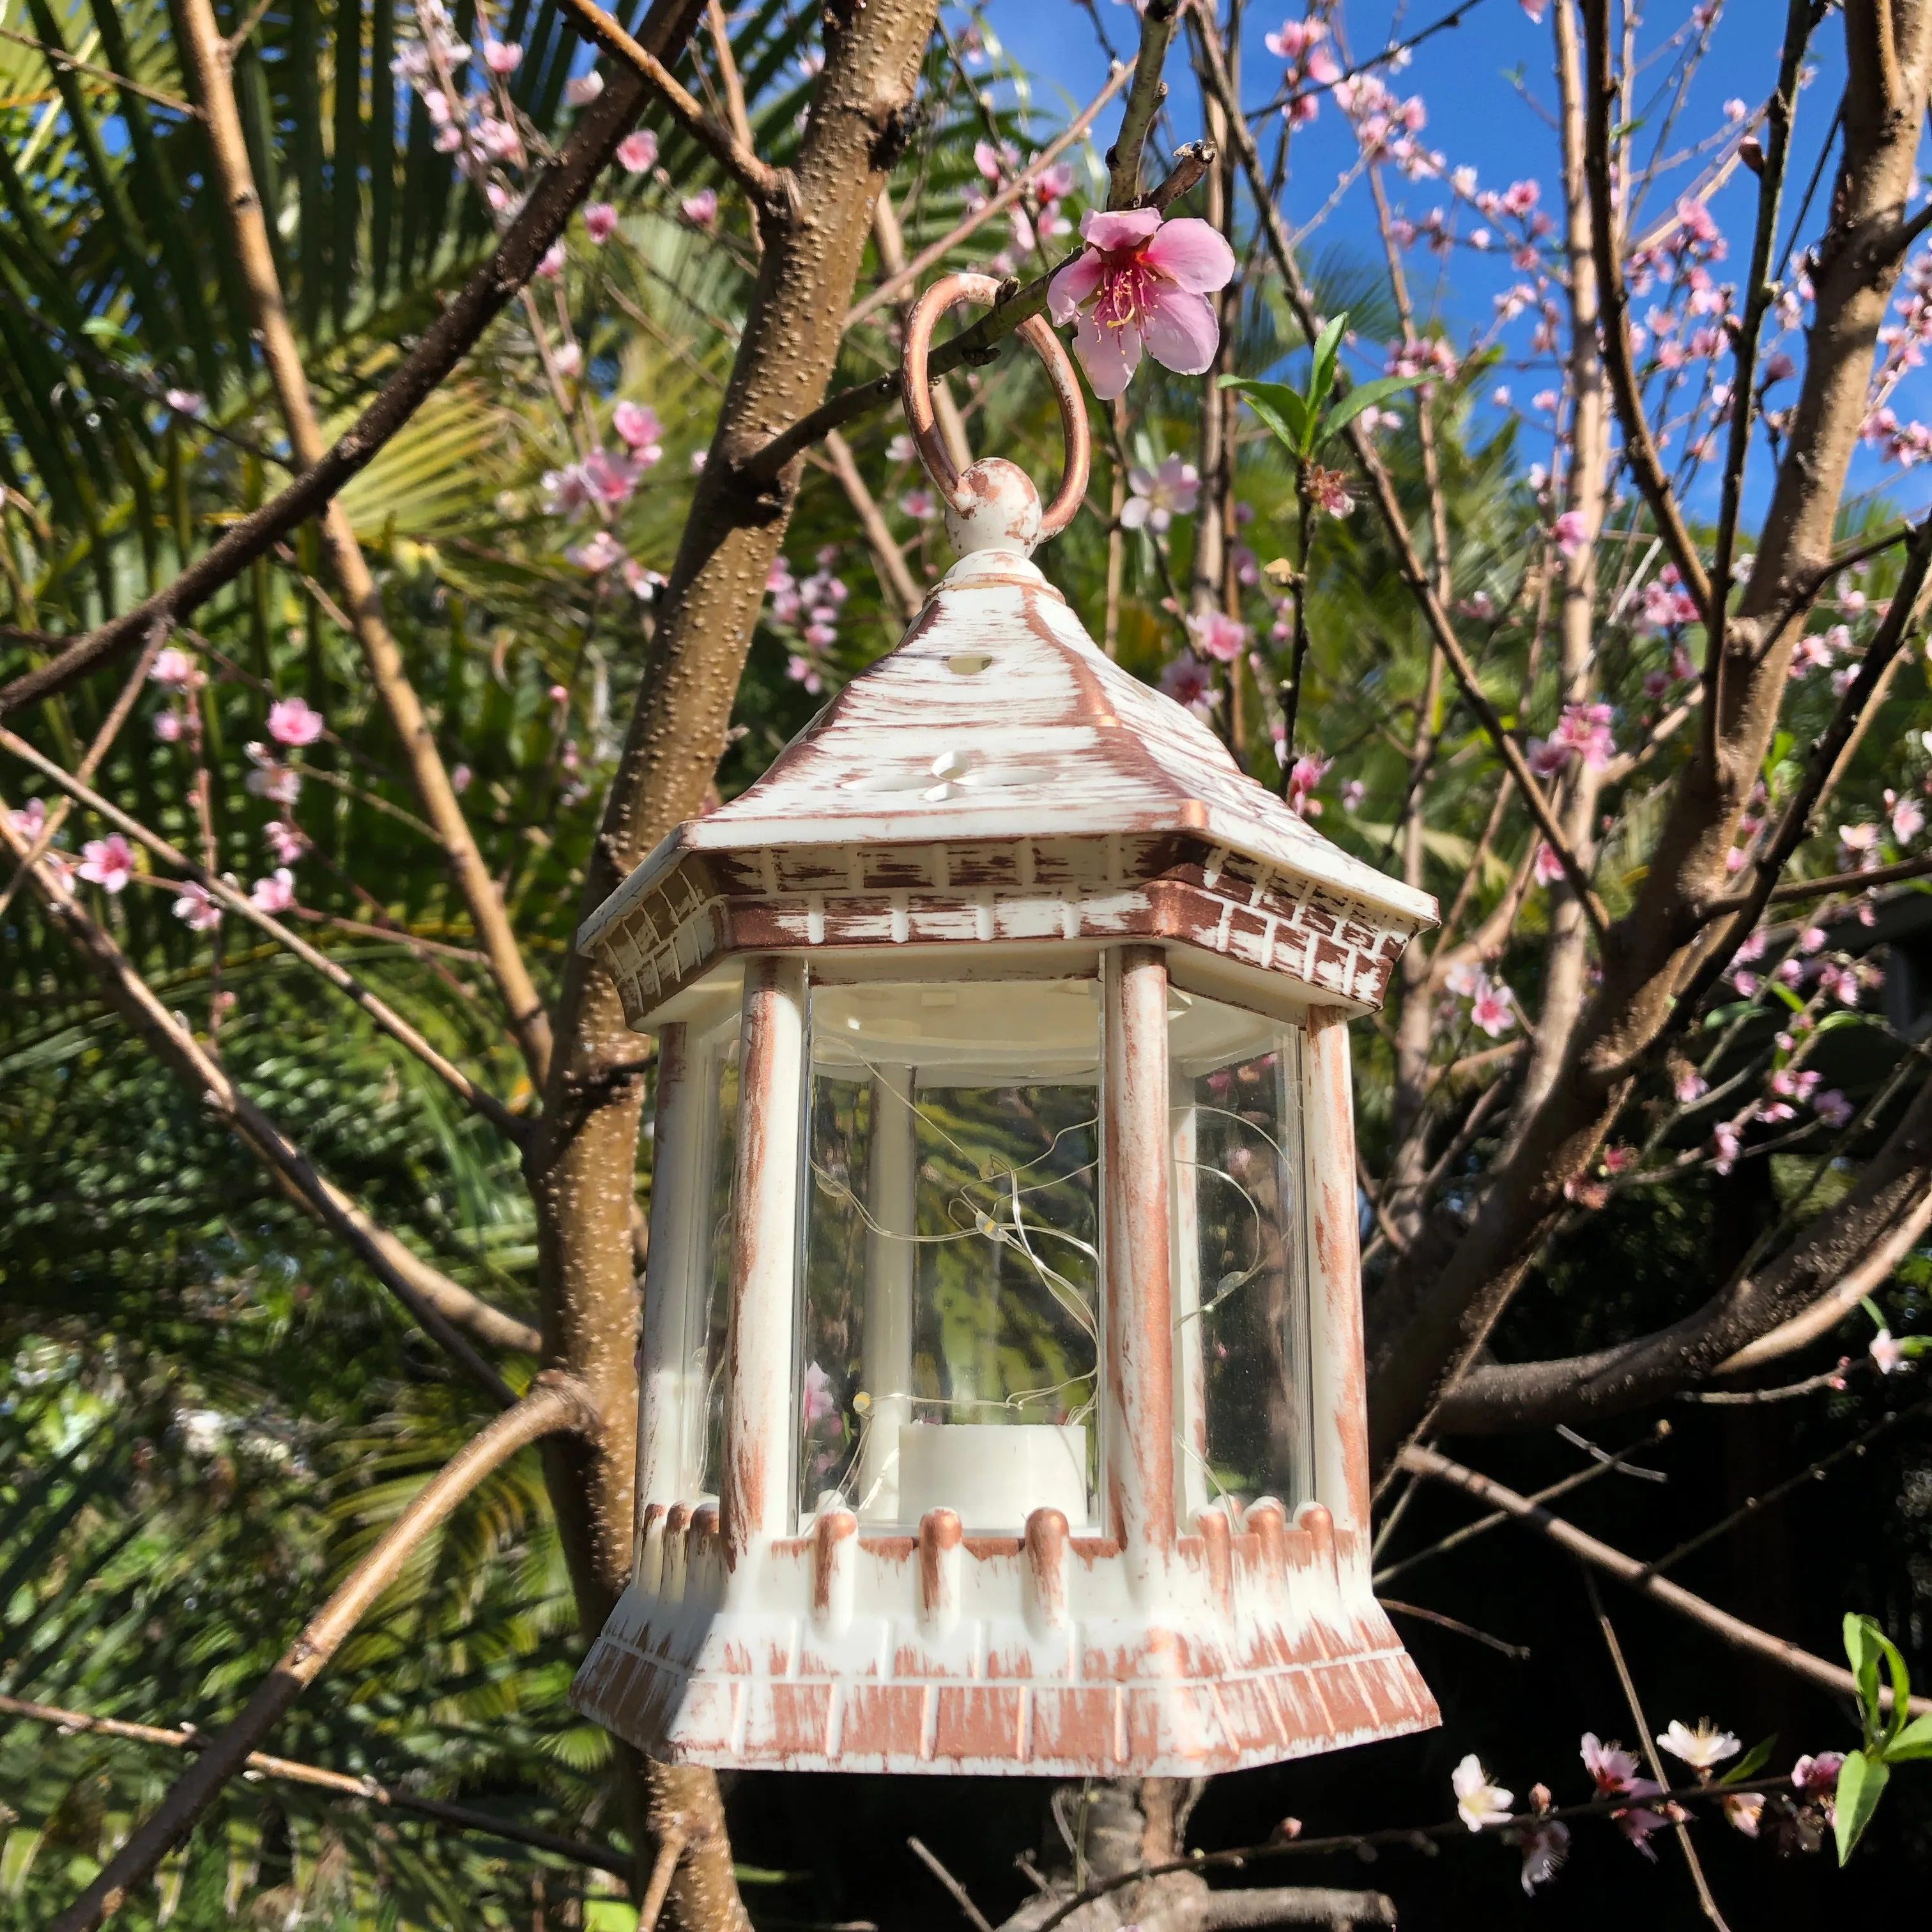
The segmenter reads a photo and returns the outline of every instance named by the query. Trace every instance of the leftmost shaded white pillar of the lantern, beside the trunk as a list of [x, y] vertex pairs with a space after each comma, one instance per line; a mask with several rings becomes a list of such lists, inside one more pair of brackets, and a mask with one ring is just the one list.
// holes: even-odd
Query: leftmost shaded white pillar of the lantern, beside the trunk
[[[643, 1265], [643, 1374], [638, 1378], [638, 1509], [690, 1499], [699, 1480], [686, 1455], [686, 1362], [705, 1320], [705, 1059], [690, 1028], [657, 1036], [657, 1111], [651, 1128], [651, 1248]], [[697, 1391], [699, 1405], [703, 1391]]]

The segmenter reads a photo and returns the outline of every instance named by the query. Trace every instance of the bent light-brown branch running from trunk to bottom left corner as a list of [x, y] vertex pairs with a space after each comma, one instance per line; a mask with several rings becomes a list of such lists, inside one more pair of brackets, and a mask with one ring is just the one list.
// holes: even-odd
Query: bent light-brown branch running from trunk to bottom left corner
[[439, 1528], [493, 1470], [545, 1435], [566, 1432], [582, 1435], [595, 1428], [597, 1408], [582, 1383], [553, 1372], [539, 1376], [529, 1395], [497, 1416], [429, 1478], [383, 1540], [350, 1571], [296, 1642], [282, 1652], [282, 1660], [242, 1712], [174, 1781], [160, 1804], [135, 1826], [128, 1843], [48, 1932], [93, 1932], [122, 1909], [128, 1893], [151, 1878], [155, 1866], [193, 1830], [222, 1785], [247, 1766], [255, 1745], [321, 1675], [342, 1640], [402, 1575], [423, 1538]]

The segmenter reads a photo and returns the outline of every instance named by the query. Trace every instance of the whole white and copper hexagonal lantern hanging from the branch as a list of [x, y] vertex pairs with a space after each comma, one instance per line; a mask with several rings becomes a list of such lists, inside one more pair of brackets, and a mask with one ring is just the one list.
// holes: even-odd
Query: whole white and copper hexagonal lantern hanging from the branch
[[1347, 1022], [1435, 902], [1109, 663], [952, 471], [904, 641], [580, 945], [657, 1034], [638, 1544], [578, 1708], [657, 1758], [1190, 1776], [1435, 1706], [1370, 1590]]

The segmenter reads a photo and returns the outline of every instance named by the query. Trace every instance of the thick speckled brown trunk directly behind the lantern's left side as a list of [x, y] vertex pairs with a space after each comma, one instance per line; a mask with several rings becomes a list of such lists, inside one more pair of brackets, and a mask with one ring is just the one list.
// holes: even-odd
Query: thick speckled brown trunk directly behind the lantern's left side
[[[724, 730], [798, 489], [794, 460], [771, 483], [746, 464], [823, 398], [838, 355], [873, 199], [896, 151], [931, 33], [933, 0], [871, 0], [829, 17], [790, 195], [773, 197], [765, 249], [711, 452], [645, 647], [641, 701], [585, 879], [597, 906], [638, 860], [692, 815]], [[595, 1631], [630, 1575], [638, 1287], [630, 1208], [643, 1043], [624, 1028], [611, 980], [572, 958], [556, 1012], [545, 1126], [527, 1157], [539, 1221], [547, 1358], [568, 1366], [607, 1416], [595, 1443], [553, 1447], [547, 1476], [578, 1590]], [[670, 1880], [680, 1926], [744, 1926], [717, 1779], [649, 1768], [647, 1828], [678, 1833]]]

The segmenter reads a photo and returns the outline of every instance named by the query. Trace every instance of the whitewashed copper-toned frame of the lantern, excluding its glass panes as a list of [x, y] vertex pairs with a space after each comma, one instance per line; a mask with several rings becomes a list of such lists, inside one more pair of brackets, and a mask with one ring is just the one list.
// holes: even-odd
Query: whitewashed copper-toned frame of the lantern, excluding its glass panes
[[[1109, 663], [1026, 560], [1086, 481], [1084, 406], [1043, 323], [1030, 340], [1068, 442], [1053, 506], [1041, 518], [1032, 483], [997, 458], [952, 473], [925, 350], [939, 313], [991, 294], [983, 276], [947, 278], [906, 344], [908, 419], [968, 554], [898, 651], [757, 784], [678, 827], [578, 935], [630, 1024], [665, 1034], [641, 1441], [668, 1439], [651, 1416], [661, 1391], [680, 1405], [686, 1457], [686, 1410], [707, 1395], [688, 1364], [715, 1211], [699, 1148], [715, 1138], [715, 1078], [692, 1041], [717, 1037], [721, 999], [744, 981], [723, 1497], [680, 1495], [690, 1472], [639, 1449], [634, 1580], [572, 1689], [661, 1760], [1186, 1777], [1437, 1721], [1370, 1588], [1345, 1024], [1379, 1007], [1435, 902], [1240, 773], [1198, 719]], [[947, 1507], [914, 1534], [867, 1536], [838, 1493], [798, 1509], [808, 968], [941, 985], [1099, 976], [1107, 1534], [1074, 1536], [1053, 1507], [1022, 1536], [970, 1534]], [[1209, 1443], [1188, 1320], [1200, 1269], [1175, 1273], [1198, 1236], [1182, 1179], [1194, 1107], [1171, 1105], [1171, 985], [1304, 1030], [1308, 1499], [1236, 1511], [1186, 1476]], [[875, 1107], [914, 1097], [910, 1078], [873, 1084]], [[873, 1167], [896, 1231], [912, 1177]], [[914, 1339], [873, 1333], [891, 1298], [873, 1273], [866, 1379], [910, 1387]], [[858, 1493], [873, 1493], [883, 1451], [862, 1466]]]

